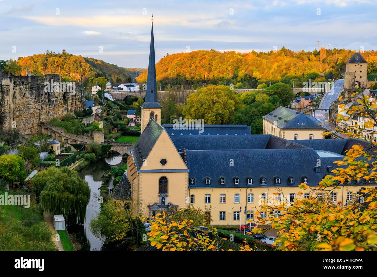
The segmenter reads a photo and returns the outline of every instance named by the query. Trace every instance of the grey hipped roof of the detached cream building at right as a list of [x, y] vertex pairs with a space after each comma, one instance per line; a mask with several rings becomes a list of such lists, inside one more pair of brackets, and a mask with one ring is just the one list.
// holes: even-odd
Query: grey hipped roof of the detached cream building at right
[[319, 125], [320, 121], [313, 116], [305, 115], [282, 106], [263, 116], [263, 118], [277, 125], [280, 129], [325, 130], [325, 128]]

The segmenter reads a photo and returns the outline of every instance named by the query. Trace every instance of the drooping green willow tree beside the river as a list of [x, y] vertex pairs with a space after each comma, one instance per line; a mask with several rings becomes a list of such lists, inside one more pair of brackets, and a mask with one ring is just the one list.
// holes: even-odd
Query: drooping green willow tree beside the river
[[49, 167], [31, 179], [39, 190], [43, 210], [52, 214], [63, 214], [66, 222], [84, 223], [90, 199], [88, 183], [69, 167]]

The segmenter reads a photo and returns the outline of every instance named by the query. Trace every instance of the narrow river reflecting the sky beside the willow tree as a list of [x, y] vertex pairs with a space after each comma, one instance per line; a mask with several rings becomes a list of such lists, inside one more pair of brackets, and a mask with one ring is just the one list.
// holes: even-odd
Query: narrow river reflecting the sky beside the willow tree
[[[122, 161], [122, 156], [117, 154], [108, 155], [106, 158], [91, 163], [89, 166], [78, 171], [81, 178], [88, 182], [90, 187], [90, 201], [86, 210], [86, 220], [83, 225], [69, 226], [68, 231], [76, 237], [76, 240], [81, 244], [81, 251], [106, 251], [102, 240], [95, 237], [89, 228], [89, 222], [93, 216], [100, 212], [100, 205], [98, 204], [98, 194], [102, 184], [102, 175], [109, 171], [113, 165], [122, 167], [126, 164]], [[115, 184], [114, 184], [115, 185]]]

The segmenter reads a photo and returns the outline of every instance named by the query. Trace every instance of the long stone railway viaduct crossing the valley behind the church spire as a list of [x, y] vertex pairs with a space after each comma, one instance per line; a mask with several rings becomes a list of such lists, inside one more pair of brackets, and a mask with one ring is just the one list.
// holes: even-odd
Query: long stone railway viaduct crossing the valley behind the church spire
[[[235, 89], [235, 93], [242, 93], [242, 92], [250, 92], [250, 91], [258, 91], [263, 89]], [[301, 92], [308, 92], [309, 94], [315, 94], [321, 92], [323, 89], [318, 88], [299, 88], [293, 89], [294, 94], [298, 94]], [[162, 103], [165, 97], [173, 98], [175, 103], [179, 104], [186, 104], [187, 96], [191, 93], [195, 93], [196, 90], [168, 90], [168, 91], [158, 91], [157, 92], [157, 101]], [[124, 97], [126, 96], [136, 96], [136, 97], [145, 97], [145, 91], [138, 91], [138, 92], [110, 92], [113, 99], [116, 101], [123, 101]]]

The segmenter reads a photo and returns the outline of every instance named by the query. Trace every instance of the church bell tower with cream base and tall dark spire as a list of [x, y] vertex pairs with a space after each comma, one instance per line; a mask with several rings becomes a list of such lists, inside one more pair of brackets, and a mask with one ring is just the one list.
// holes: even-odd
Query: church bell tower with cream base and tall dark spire
[[145, 102], [141, 105], [141, 132], [147, 126], [149, 120], [154, 118], [161, 125], [161, 105], [157, 102], [157, 83], [156, 83], [156, 60], [155, 60], [155, 42], [152, 33], [150, 35], [149, 65], [147, 77], [147, 90]]

